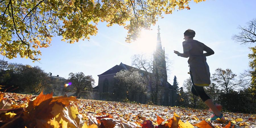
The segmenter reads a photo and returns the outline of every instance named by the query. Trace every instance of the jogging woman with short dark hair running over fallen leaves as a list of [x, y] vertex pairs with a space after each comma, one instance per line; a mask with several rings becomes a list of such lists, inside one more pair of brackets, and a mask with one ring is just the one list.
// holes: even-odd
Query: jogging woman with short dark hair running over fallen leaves
[[[189, 74], [193, 83], [191, 86], [191, 92], [194, 95], [199, 96], [210, 110], [212, 110], [213, 115], [210, 119], [216, 120], [220, 118], [221, 121], [225, 121], [223, 114], [220, 113], [222, 106], [214, 104], [203, 88], [203, 86], [209, 86], [211, 83], [210, 71], [206, 62], [206, 57], [214, 54], [214, 51], [205, 44], [197, 40], [193, 40], [194, 37], [195, 31], [190, 29], [186, 30], [184, 32], [185, 41], [182, 42], [183, 53], [179, 53], [178, 51], [174, 51], [174, 53], [181, 57], [189, 57]], [[203, 53], [203, 51], [206, 51], [206, 53]]]

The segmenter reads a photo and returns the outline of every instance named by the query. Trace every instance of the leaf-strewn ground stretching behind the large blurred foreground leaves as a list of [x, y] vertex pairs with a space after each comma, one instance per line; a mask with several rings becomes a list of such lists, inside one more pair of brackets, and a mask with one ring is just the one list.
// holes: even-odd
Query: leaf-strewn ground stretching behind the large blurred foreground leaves
[[[5, 99], [11, 104], [26, 104], [28, 98], [35, 100], [36, 96], [22, 95], [15, 93], [5, 93]], [[61, 101], [64, 102], [64, 101]], [[0, 105], [1, 106], [1, 105]], [[219, 121], [210, 121], [209, 117], [212, 114], [208, 110], [197, 110], [191, 108], [181, 107], [170, 107], [170, 106], [157, 106], [148, 104], [135, 104], [135, 103], [124, 103], [124, 102], [110, 102], [100, 100], [87, 100], [79, 99], [78, 101], [71, 101], [71, 106], [78, 108], [78, 112], [88, 122], [89, 126], [96, 124], [99, 127], [112, 127], [110, 125], [115, 124], [116, 126], [122, 127], [154, 127], [161, 128], [160, 124], [164, 127], [174, 127], [174, 122], [178, 121], [177, 127], [184, 125], [186, 127], [195, 125], [199, 122], [204, 123], [203, 120], [210, 122], [214, 127], [230, 127], [227, 125], [229, 122], [232, 123], [233, 127], [256, 127], [256, 115], [255, 114], [243, 114], [243, 113], [230, 113], [223, 112], [226, 118], [226, 123], [220, 123]], [[0, 108], [1, 109], [1, 108]], [[52, 111], [52, 110], [51, 110]], [[177, 116], [174, 116], [176, 115]], [[41, 113], [42, 114], [42, 113]], [[41, 116], [41, 115], [38, 115]], [[177, 120], [176, 120], [177, 119]], [[146, 122], [150, 120], [151, 122]], [[180, 120], [180, 121], [179, 121]], [[55, 120], [54, 120], [55, 121]], [[184, 123], [182, 123], [182, 122]], [[189, 126], [185, 122], [189, 122]], [[110, 123], [111, 122], [111, 123]], [[115, 122], [115, 123], [113, 123]], [[125, 125], [117, 125], [122, 122]], [[181, 123], [182, 124], [181, 124]], [[101, 125], [102, 124], [102, 125]], [[126, 126], [127, 124], [127, 126]], [[144, 124], [144, 125], [143, 125]], [[114, 125], [113, 125], [114, 126]], [[196, 126], [194, 126], [196, 127]], [[202, 127], [202, 126], [201, 126]], [[204, 127], [204, 126], [203, 126]], [[206, 127], [206, 126], [205, 126]]]

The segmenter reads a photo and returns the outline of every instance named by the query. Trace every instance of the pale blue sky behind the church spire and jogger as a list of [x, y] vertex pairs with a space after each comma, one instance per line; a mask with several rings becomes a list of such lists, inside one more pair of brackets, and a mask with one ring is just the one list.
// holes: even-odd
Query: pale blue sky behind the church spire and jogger
[[[218, 67], [230, 68], [236, 74], [248, 69], [249, 46], [235, 43], [231, 37], [237, 34], [239, 25], [244, 26], [249, 20], [256, 18], [255, 0], [208, 0], [201, 3], [190, 3], [190, 10], [175, 11], [164, 15], [152, 26], [152, 30], [143, 30], [141, 37], [131, 43], [125, 43], [127, 31], [118, 25], [106, 27], [106, 22], [98, 24], [98, 34], [90, 41], [79, 41], [75, 44], [62, 42], [61, 37], [54, 37], [49, 48], [42, 48], [40, 63], [30, 59], [7, 59], [9, 63], [38, 65], [52, 75], [68, 78], [69, 73], [83, 72], [92, 75], [95, 86], [98, 76], [121, 62], [131, 65], [134, 54], [145, 53], [150, 56], [155, 49], [157, 26], [160, 26], [162, 46], [172, 61], [168, 74], [172, 84], [174, 75], [179, 82], [189, 78], [187, 59], [178, 57], [173, 50], [182, 51], [183, 33], [188, 28], [195, 30], [195, 40], [198, 40], [215, 51], [207, 57], [210, 72]], [[3, 56], [0, 56], [3, 59]]]

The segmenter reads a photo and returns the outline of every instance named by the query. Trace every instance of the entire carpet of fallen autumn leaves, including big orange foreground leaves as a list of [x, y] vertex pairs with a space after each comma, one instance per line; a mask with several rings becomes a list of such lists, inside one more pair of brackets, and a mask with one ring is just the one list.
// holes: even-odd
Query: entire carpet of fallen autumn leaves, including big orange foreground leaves
[[[256, 116], [224, 113], [228, 124], [208, 122], [211, 113], [180, 107], [77, 100], [40, 93], [0, 93], [0, 127], [54, 128], [229, 128], [256, 127]], [[239, 117], [239, 118], [238, 118]], [[205, 121], [206, 120], [206, 121]], [[193, 124], [193, 125], [192, 125]]]

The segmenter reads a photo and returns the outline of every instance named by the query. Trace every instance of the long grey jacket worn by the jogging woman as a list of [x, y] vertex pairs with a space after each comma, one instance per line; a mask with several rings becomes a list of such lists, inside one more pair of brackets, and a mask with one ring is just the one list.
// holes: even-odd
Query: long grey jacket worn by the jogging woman
[[[183, 53], [178, 54], [181, 57], [189, 57], [188, 63], [190, 72], [193, 76], [193, 82], [197, 86], [209, 86], [210, 70], [206, 62], [206, 56], [214, 54], [214, 51], [205, 44], [197, 40], [186, 40], [182, 43]], [[203, 53], [206, 51], [206, 53]]]

